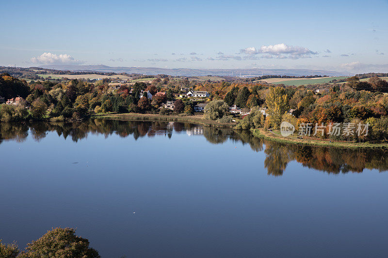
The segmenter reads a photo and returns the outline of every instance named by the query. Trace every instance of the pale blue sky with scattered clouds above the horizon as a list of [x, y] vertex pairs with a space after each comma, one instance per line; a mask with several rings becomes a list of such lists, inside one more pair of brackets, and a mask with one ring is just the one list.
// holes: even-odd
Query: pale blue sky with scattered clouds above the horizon
[[388, 0], [4, 1], [0, 65], [388, 72]]

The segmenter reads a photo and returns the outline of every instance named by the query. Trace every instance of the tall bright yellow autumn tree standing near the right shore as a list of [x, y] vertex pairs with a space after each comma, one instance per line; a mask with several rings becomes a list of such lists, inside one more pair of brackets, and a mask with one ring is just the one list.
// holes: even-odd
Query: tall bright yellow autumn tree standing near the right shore
[[268, 119], [277, 129], [281, 123], [282, 116], [289, 109], [288, 97], [281, 87], [271, 87], [266, 95], [265, 103], [268, 107]]

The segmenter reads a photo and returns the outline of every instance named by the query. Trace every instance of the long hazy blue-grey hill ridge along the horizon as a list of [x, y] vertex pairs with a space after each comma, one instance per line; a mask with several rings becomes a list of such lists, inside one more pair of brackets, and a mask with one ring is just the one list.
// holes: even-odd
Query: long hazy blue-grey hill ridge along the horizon
[[347, 73], [323, 70], [307, 70], [307, 69], [189, 69], [176, 68], [166, 69], [157, 67], [112, 67], [107, 65], [41, 65], [41, 68], [70, 70], [70, 71], [99, 71], [113, 73], [128, 73], [128, 74], [144, 74], [144, 75], [172, 75], [172, 76], [261, 76], [261, 75], [280, 75], [280, 76], [348, 76]]

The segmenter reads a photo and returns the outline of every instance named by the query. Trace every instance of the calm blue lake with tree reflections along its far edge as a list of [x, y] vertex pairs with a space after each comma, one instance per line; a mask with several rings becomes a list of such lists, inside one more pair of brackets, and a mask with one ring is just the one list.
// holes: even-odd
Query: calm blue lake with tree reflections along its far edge
[[108, 258], [387, 257], [387, 157], [176, 122], [2, 123], [0, 239], [61, 226]]

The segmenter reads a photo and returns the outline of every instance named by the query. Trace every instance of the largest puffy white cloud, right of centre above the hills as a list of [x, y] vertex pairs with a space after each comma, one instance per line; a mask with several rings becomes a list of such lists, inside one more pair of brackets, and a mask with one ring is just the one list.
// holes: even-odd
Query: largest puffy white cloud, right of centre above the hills
[[[328, 49], [327, 49], [328, 50]], [[327, 51], [326, 50], [326, 51]], [[330, 50], [328, 50], [330, 51]], [[311, 55], [318, 54], [317, 52], [313, 52], [307, 47], [303, 46], [287, 46], [286, 44], [276, 44], [269, 46], [261, 46], [259, 49], [256, 47], [247, 47], [245, 49], [241, 49], [240, 53], [248, 54], [248, 55], [256, 55], [256, 54], [267, 54], [264, 58], [275, 58], [278, 59], [298, 59], [298, 58], [309, 58]], [[269, 56], [271, 55], [271, 56]]]

